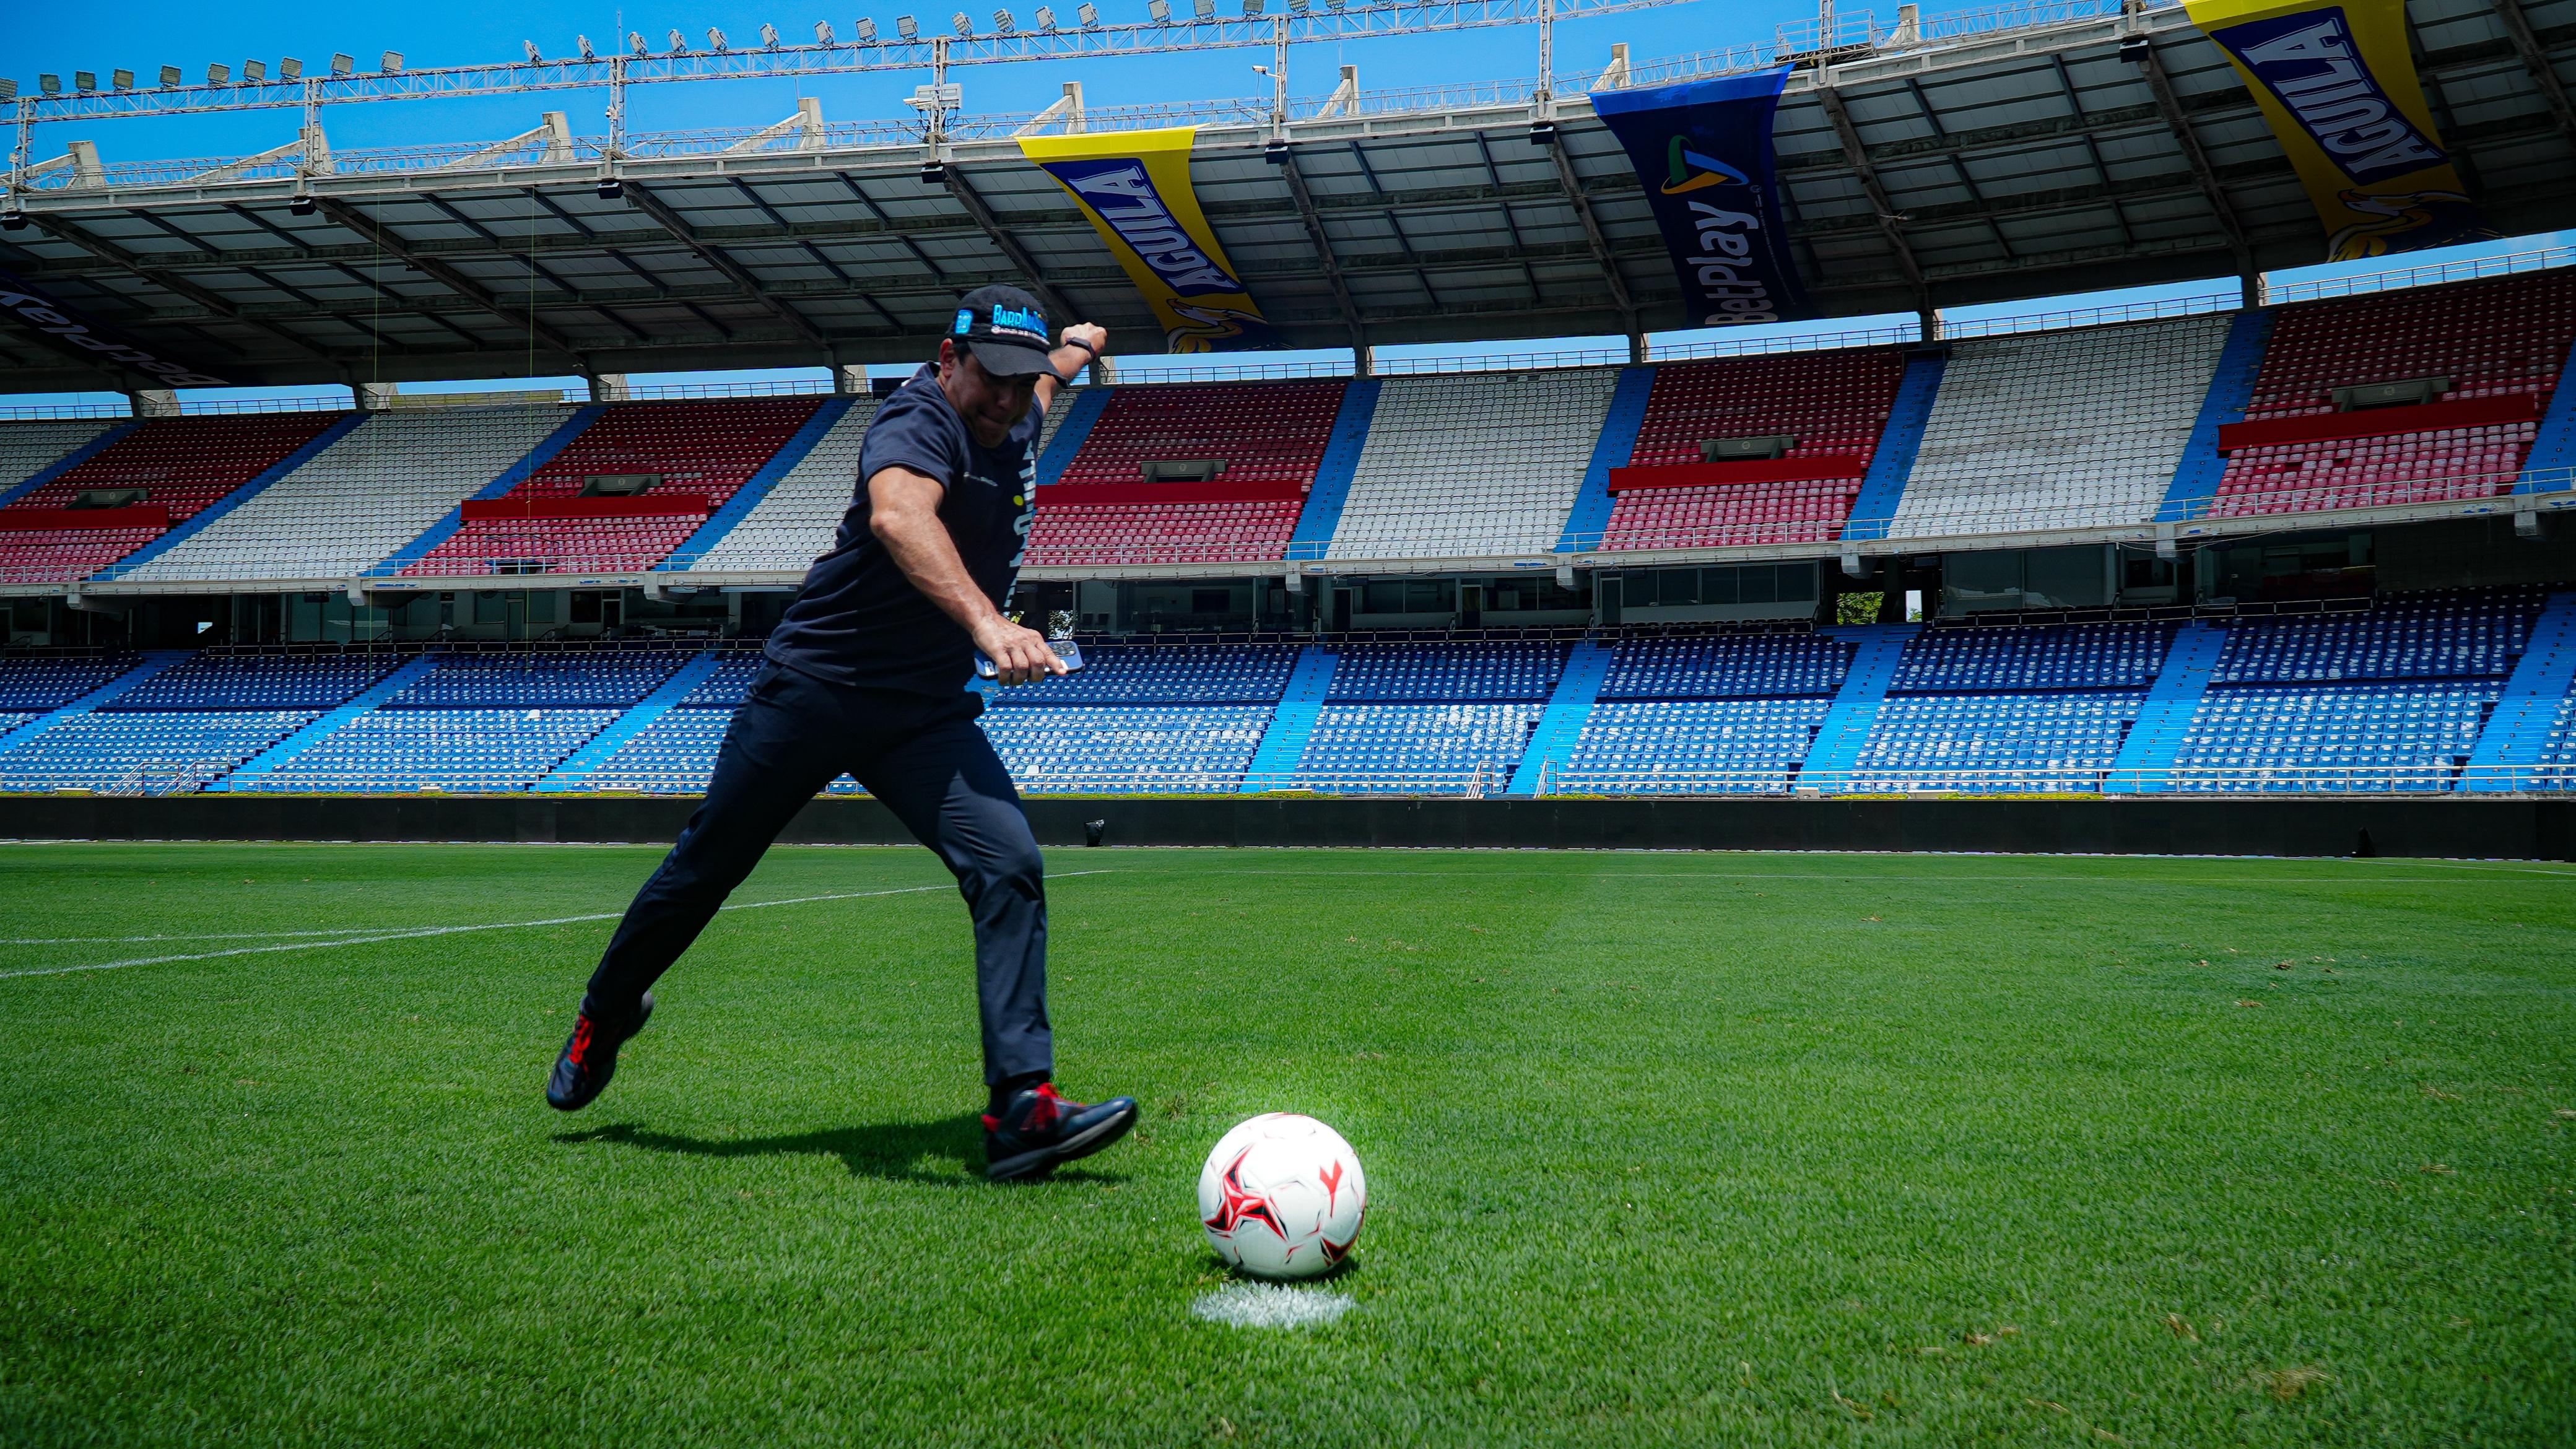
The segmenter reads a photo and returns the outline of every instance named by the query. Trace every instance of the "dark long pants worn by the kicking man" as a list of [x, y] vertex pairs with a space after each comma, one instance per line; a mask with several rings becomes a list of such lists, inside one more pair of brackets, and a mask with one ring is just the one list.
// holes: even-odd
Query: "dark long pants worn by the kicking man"
[[724, 732], [706, 804], [644, 882], [590, 975], [592, 1013], [629, 1013], [752, 874], [788, 817], [850, 771], [938, 851], [974, 915], [984, 1080], [1054, 1067], [1046, 1021], [1046, 861], [1010, 771], [976, 730], [981, 699], [842, 688], [765, 665]]

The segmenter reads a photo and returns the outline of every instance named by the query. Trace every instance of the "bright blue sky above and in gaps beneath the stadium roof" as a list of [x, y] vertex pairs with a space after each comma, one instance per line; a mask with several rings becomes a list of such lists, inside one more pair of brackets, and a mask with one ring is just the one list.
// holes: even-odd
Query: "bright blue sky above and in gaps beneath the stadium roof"
[[[969, 5], [979, 26], [989, 26], [992, 3]], [[1059, 0], [1059, 13], [1072, 13], [1079, 0]], [[1010, 0], [1020, 23], [1028, 23], [1036, 0]], [[1239, 0], [1221, 0], [1234, 10]], [[853, 34], [858, 15], [873, 15], [886, 31], [894, 15], [914, 13], [922, 28], [945, 28], [948, 13], [958, 3], [889, 0], [884, 5], [858, 0], [837, 10], [814, 5], [788, 8], [783, 3], [742, 0], [634, 0], [562, 5], [489, 0], [464, 5], [402, 5], [374, 8], [322, 5], [317, 0], [265, 3], [265, 5], [178, 5], [167, 0], [137, 0], [93, 10], [88, 5], [28, 5], [10, 21], [10, 54], [0, 59], [0, 75], [10, 75], [21, 88], [33, 90], [39, 72], [70, 75], [95, 70], [106, 75], [129, 67], [142, 75], [162, 64], [178, 64], [191, 80], [206, 72], [209, 62], [234, 70], [245, 59], [265, 59], [270, 67], [281, 57], [299, 57], [312, 70], [322, 70], [332, 52], [361, 57], [374, 67], [386, 49], [402, 52], [412, 67], [502, 62], [520, 57], [520, 41], [536, 41], [544, 54], [572, 54], [574, 36], [587, 34], [598, 49], [608, 49], [611, 36], [641, 31], [662, 49], [662, 36], [680, 28], [690, 44], [703, 41], [708, 26], [721, 26], [734, 44], [757, 41], [760, 23], [775, 23], [783, 36], [809, 39], [814, 21], [832, 21], [842, 36]], [[1185, 10], [1185, 0], [1175, 8]], [[1935, 13], [1950, 5], [1929, 5]], [[1146, 0], [1100, 0], [1110, 23], [1144, 21]], [[1806, 0], [1690, 0], [1656, 10], [1633, 10], [1592, 21], [1561, 23], [1556, 57], [1561, 72], [1605, 64], [1613, 41], [1628, 41], [1636, 59], [1674, 57], [1705, 49], [1723, 49], [1765, 41], [1775, 26], [1806, 21], [1814, 5]], [[1252, 64], [1267, 59], [1265, 52], [1198, 52], [1172, 57], [1115, 57], [1084, 62], [1043, 64], [989, 64], [963, 67], [953, 77], [966, 90], [969, 111], [1033, 111], [1054, 101], [1066, 80], [1082, 80], [1092, 106], [1149, 103], [1170, 98], [1224, 98], [1260, 95], [1267, 80], [1252, 75]], [[1530, 26], [1504, 26], [1489, 31], [1455, 31], [1440, 36], [1383, 36], [1350, 44], [1296, 46], [1291, 54], [1291, 90], [1321, 95], [1332, 90], [1340, 64], [1360, 67], [1365, 88], [1409, 88], [1497, 77], [1525, 77], [1538, 70], [1538, 34]], [[824, 116], [835, 121], [909, 116], [902, 103], [927, 72], [889, 72], [824, 77], [806, 83], [806, 93], [822, 98]], [[726, 80], [688, 85], [644, 85], [629, 93], [629, 129], [714, 129], [755, 126], [788, 116], [796, 108], [799, 85], [773, 80]], [[536, 111], [562, 108], [572, 113], [572, 126], [582, 134], [605, 131], [600, 93], [551, 93], [528, 101], [399, 101], [335, 106], [325, 111], [325, 129], [335, 150], [495, 139], [536, 124]], [[108, 160], [162, 160], [162, 157], [229, 157], [268, 150], [294, 134], [291, 111], [245, 111], [185, 119], [116, 119], [39, 126], [33, 155], [62, 155], [72, 139], [93, 139]], [[2522, 250], [2563, 237], [2519, 237], [2506, 245], [2465, 248]], [[2452, 255], [2452, 253], [2445, 253]], [[2406, 258], [2406, 260], [2429, 260]], [[2357, 271], [2383, 271], [2391, 263], [2357, 263]], [[2354, 268], [2303, 268], [2354, 271]], [[2287, 276], [2287, 273], [2280, 273]], [[2215, 281], [2190, 281], [2161, 289], [2143, 289], [2123, 297], [2197, 294], [2223, 286]], [[2094, 299], [2043, 297], [2004, 307], [1976, 307], [1958, 315], [1996, 312], [2050, 312]], [[1837, 317], [1814, 325], [1785, 325], [1788, 330], [1842, 330], [1868, 325], [1862, 317]], [[1618, 338], [1564, 338], [1553, 343], [1510, 343], [1510, 348], [1564, 348], [1564, 345], [1620, 345]], [[1453, 353], [1476, 348], [1404, 348], [1404, 353]], [[1288, 353], [1345, 356], [1345, 353]], [[1131, 374], [1151, 364], [1128, 364]], [[819, 369], [806, 369], [822, 376]], [[750, 376], [801, 376], [799, 371], [760, 374], [670, 374], [657, 382], [698, 376], [750, 379]], [[577, 379], [541, 379], [572, 382]], [[639, 379], [644, 382], [644, 379]], [[523, 387], [526, 382], [520, 382]], [[489, 382], [459, 382], [453, 387], [489, 387]], [[314, 389], [224, 389], [242, 392], [314, 392]], [[222, 392], [219, 392], [222, 394]], [[5, 405], [113, 400], [113, 394], [46, 394], [0, 397]]]

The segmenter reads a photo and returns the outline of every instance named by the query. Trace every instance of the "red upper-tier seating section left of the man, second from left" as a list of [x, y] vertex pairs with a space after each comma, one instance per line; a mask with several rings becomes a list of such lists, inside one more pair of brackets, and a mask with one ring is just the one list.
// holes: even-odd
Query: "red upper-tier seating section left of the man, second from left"
[[469, 500], [453, 536], [402, 575], [649, 570], [819, 407], [817, 397], [618, 402], [526, 482]]

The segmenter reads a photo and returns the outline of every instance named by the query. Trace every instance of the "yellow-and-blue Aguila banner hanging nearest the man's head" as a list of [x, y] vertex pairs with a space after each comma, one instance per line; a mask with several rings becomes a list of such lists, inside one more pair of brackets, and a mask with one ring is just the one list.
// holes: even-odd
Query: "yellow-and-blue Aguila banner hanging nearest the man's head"
[[1280, 335], [1244, 294], [1190, 188], [1198, 126], [1020, 137], [1020, 152], [1082, 206], [1175, 353], [1278, 348]]

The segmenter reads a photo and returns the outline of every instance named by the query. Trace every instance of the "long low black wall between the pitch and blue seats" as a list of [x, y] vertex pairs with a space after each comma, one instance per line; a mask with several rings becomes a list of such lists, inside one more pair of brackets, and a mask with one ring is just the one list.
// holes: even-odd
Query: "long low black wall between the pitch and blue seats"
[[[647, 841], [693, 799], [0, 797], [8, 841]], [[1030, 799], [1046, 846], [1473, 846], [2576, 859], [2576, 799]], [[907, 843], [873, 799], [817, 799], [786, 843]]]

